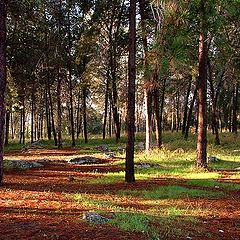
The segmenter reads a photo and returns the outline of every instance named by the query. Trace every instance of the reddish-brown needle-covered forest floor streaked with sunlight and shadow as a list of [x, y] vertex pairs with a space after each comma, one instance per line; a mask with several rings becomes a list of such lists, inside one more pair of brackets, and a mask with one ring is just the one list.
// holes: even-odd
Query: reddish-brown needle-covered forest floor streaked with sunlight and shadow
[[[222, 189], [223, 195], [213, 198], [204, 194], [202, 197], [166, 197], [163, 199], [165, 202], [155, 205], [156, 199], [147, 201], [136, 194], [128, 197], [119, 192], [146, 191], [170, 185], [186, 187], [186, 182], [172, 176], [137, 180], [135, 184], [126, 184], [123, 180], [95, 184], [92, 180], [100, 179], [105, 173], [123, 171], [123, 166], [116, 165], [114, 159], [102, 159], [100, 163], [92, 165], [56, 161], [79, 155], [80, 150], [72, 148], [11, 151], [6, 154], [6, 159], [52, 161], [43, 163], [42, 168], [5, 171], [4, 184], [0, 188], [1, 240], [240, 239], [239, 189]], [[232, 178], [234, 174], [236, 172], [221, 172], [221, 181], [239, 184], [239, 179]], [[201, 190], [201, 187], [191, 188]], [[216, 192], [219, 189], [210, 186], [208, 190]], [[79, 201], [73, 197], [76, 194], [82, 194]], [[91, 199], [104, 199], [105, 204], [100, 201], [98, 204], [86, 202], [83, 198], [86, 195]], [[106, 201], [114, 202], [114, 207], [112, 203], [106, 204]], [[166, 208], [169, 206], [171, 211]], [[149, 215], [154, 215], [152, 209], [165, 208], [168, 214], [164, 220], [150, 218], [147, 223], [144, 222], [155, 229], [154, 234], [141, 230], [124, 231], [112, 224], [90, 224], [82, 218], [86, 212], [97, 210], [107, 215], [124, 207], [128, 212]], [[185, 212], [181, 214], [184, 208], [192, 209], [192, 216]], [[171, 215], [169, 212], [174, 213]]]

